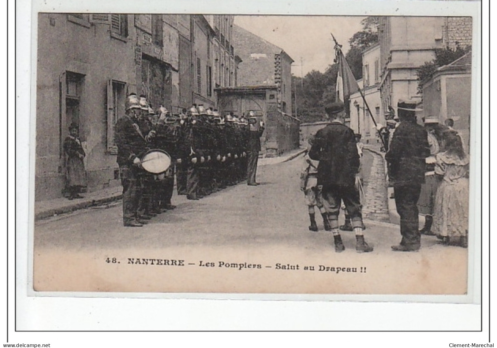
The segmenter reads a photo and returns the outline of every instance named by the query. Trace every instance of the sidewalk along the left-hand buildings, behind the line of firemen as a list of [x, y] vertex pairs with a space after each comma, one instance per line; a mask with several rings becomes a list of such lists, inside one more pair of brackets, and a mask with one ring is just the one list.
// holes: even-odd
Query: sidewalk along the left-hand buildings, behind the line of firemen
[[[261, 158], [258, 166], [274, 165], [291, 161], [303, 154], [305, 149], [297, 149], [279, 157]], [[84, 193], [84, 198], [69, 200], [64, 197], [37, 201], [34, 204], [34, 220], [42, 220], [51, 216], [68, 213], [74, 210], [103, 205], [122, 198], [122, 186], [115, 186]]]

